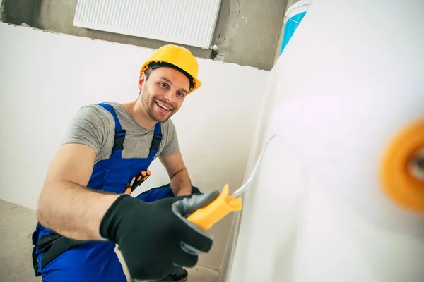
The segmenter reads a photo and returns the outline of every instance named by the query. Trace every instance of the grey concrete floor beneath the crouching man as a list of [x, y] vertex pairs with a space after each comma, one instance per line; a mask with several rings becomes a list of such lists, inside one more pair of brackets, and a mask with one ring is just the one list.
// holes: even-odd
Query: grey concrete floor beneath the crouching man
[[[37, 223], [35, 211], [0, 200], [0, 214], [0, 281], [40, 282], [31, 262], [31, 235]], [[218, 282], [218, 271], [201, 266], [188, 271], [189, 282]]]

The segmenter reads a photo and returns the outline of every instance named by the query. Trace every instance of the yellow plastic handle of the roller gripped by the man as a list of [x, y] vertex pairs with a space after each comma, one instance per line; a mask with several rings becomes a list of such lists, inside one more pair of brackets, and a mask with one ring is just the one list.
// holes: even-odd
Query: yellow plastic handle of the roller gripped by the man
[[206, 231], [230, 212], [240, 211], [240, 209], [242, 209], [242, 199], [240, 197], [233, 199], [228, 196], [228, 184], [226, 184], [223, 192], [213, 202], [196, 210], [187, 219]]

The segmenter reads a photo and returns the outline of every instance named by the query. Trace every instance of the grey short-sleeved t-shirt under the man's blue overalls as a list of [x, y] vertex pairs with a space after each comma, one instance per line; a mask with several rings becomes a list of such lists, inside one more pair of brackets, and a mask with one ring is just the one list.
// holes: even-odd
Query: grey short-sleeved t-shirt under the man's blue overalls
[[[134, 118], [116, 102], [107, 102], [113, 106], [122, 129], [126, 130], [122, 158], [146, 158], [150, 152], [155, 128], [142, 128]], [[109, 111], [98, 104], [81, 107], [66, 129], [62, 145], [82, 143], [92, 147], [96, 152], [95, 162], [108, 159], [114, 144], [114, 118]], [[155, 158], [169, 156], [179, 152], [177, 132], [174, 123], [168, 119], [161, 124], [163, 139]]]

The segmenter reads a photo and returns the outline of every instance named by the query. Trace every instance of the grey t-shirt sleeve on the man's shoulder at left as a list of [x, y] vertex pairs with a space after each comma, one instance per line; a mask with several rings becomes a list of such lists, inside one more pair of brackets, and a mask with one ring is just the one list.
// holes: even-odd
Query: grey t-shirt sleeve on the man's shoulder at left
[[113, 117], [100, 106], [83, 106], [71, 119], [61, 145], [80, 143], [92, 147], [98, 154], [110, 132], [111, 119]]

